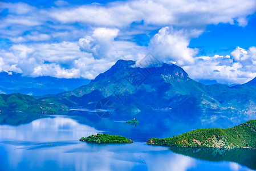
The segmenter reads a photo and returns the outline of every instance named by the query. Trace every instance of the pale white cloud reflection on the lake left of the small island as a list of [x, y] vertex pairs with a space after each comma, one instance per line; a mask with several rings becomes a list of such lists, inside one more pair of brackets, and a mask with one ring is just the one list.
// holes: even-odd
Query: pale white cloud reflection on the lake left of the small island
[[65, 116], [34, 120], [30, 124], [13, 127], [0, 125], [0, 138], [26, 141], [67, 141], [97, 133], [95, 128], [79, 124]]

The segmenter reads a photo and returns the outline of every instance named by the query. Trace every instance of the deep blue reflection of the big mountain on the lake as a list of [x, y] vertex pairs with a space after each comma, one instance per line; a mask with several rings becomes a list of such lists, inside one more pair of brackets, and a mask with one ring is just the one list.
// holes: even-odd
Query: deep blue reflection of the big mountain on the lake
[[[220, 117], [215, 121], [202, 121], [203, 119], [197, 117], [198, 115], [190, 116], [189, 119], [186, 119], [184, 116], [179, 117], [183, 114], [155, 111], [141, 112], [131, 117], [125, 115], [125, 113], [115, 113], [109, 119], [102, 119], [92, 111], [71, 111], [68, 113], [68, 116], [81, 124], [90, 125], [95, 129], [125, 136], [139, 142], [146, 142], [152, 137], [165, 138], [180, 135], [181, 133], [198, 128], [228, 128], [249, 120], [248, 118], [231, 120], [226, 117]], [[140, 124], [137, 124], [136, 127], [125, 123], [126, 120], [133, 119], [134, 117], [140, 121]]]

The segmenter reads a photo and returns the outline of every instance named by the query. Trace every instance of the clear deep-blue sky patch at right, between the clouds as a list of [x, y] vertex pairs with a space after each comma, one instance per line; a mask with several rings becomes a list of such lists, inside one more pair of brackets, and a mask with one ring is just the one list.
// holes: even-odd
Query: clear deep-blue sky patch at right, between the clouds
[[206, 31], [190, 41], [189, 47], [201, 49], [201, 55], [230, 55], [237, 47], [249, 48], [256, 45], [256, 14], [247, 17], [245, 27], [237, 23], [219, 23], [206, 26]]

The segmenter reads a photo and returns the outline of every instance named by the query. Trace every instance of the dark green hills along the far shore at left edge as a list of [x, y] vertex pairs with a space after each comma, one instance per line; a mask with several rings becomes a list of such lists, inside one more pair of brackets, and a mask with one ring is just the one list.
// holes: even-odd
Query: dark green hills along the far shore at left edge
[[61, 103], [50, 103], [42, 101], [29, 95], [13, 93], [11, 95], [0, 95], [0, 114], [2, 112], [35, 112], [35, 113], [57, 113], [68, 111], [68, 107]]

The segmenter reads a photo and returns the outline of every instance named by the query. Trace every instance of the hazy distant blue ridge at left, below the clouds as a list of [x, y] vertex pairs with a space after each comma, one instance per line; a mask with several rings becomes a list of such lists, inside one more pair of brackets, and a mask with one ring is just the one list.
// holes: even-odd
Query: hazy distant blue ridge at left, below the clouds
[[15, 72], [0, 72], [0, 92], [42, 96], [75, 89], [90, 83], [88, 79], [59, 79], [51, 76], [31, 78]]

